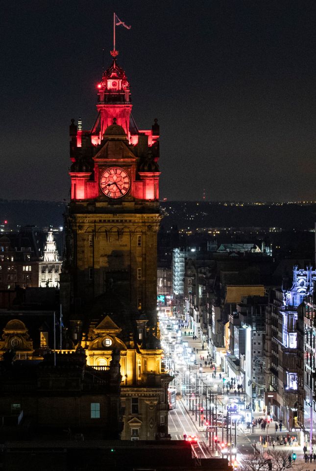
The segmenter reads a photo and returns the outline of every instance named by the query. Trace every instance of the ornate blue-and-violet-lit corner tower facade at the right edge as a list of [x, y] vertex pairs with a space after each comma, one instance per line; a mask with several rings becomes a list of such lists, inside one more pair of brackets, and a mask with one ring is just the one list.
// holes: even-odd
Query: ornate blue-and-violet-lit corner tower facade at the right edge
[[[313, 332], [307, 327], [311, 321], [306, 317], [304, 306], [310, 305], [314, 292], [316, 271], [312, 266], [306, 269], [293, 267], [293, 282], [290, 289], [283, 288], [283, 305], [279, 310], [279, 392], [282, 395], [281, 418], [289, 429], [310, 428], [311, 398], [314, 387], [312, 370], [315, 367], [314, 355], [307, 350], [313, 348]], [[313, 328], [312, 328], [313, 330]], [[307, 334], [307, 335], [306, 335]], [[315, 335], [315, 331], [314, 331]], [[310, 346], [308, 347], [308, 345]], [[305, 352], [305, 353], [304, 353]], [[311, 366], [308, 366], [309, 359]], [[306, 386], [306, 385], [309, 386]], [[306, 414], [308, 411], [308, 414]], [[306, 417], [307, 416], [307, 417]]]

